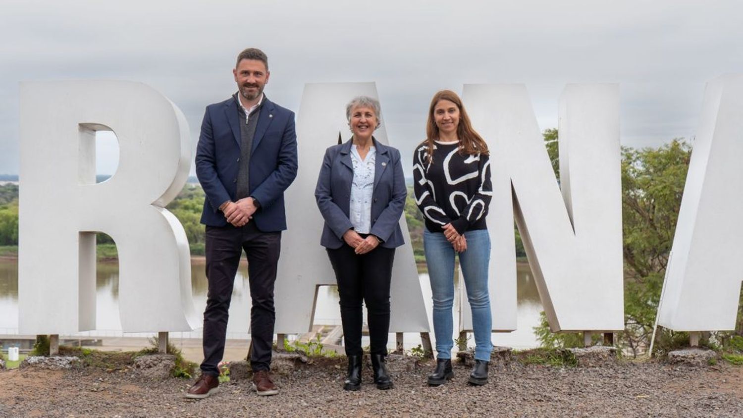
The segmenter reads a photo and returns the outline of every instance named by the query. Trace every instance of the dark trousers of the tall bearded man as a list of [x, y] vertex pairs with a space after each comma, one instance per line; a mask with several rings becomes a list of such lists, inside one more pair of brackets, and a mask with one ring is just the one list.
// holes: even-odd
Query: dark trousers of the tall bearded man
[[270, 370], [273, 324], [273, 284], [281, 250], [281, 232], [261, 232], [255, 223], [241, 228], [232, 225], [207, 226], [206, 255], [207, 309], [204, 310], [204, 362], [202, 373], [218, 374], [217, 365], [224, 356], [224, 339], [230, 312], [235, 274], [242, 250], [247, 254], [247, 274], [250, 282], [250, 338], [253, 352], [250, 365], [254, 371]]

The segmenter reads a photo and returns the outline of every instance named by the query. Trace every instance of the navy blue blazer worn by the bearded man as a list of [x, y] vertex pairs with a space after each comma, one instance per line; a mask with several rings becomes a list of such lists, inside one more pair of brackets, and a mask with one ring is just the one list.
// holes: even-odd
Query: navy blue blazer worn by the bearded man
[[[240, 118], [234, 97], [207, 106], [196, 148], [196, 176], [207, 198], [201, 223], [226, 226], [219, 206], [235, 201], [240, 164]], [[250, 154], [250, 196], [261, 207], [250, 222], [262, 232], [286, 229], [284, 191], [296, 177], [294, 113], [263, 97]]]

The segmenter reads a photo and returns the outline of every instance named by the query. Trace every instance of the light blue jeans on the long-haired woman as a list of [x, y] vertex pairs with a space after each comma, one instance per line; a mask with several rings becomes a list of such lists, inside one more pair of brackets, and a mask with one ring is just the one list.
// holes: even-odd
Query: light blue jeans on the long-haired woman
[[[467, 299], [472, 307], [475, 331], [475, 359], [490, 361], [490, 333], [493, 319], [490, 316], [490, 296], [487, 290], [487, 267], [490, 262], [490, 235], [487, 229], [464, 232], [467, 250], [459, 254], [459, 267], [467, 287]], [[454, 257], [456, 252], [443, 232], [424, 229], [424, 250], [433, 295], [433, 333], [439, 359], [451, 359], [454, 304]]]

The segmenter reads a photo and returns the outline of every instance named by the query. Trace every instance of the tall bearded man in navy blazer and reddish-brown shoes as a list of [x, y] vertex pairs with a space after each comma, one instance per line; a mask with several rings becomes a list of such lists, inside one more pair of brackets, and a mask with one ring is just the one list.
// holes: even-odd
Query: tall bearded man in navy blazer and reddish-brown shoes
[[207, 106], [196, 149], [196, 174], [204, 188], [207, 279], [204, 310], [204, 362], [201, 378], [186, 397], [201, 399], [218, 389], [218, 363], [224, 339], [233, 282], [245, 251], [248, 261], [253, 387], [273, 395], [270, 381], [273, 285], [286, 229], [284, 191], [296, 177], [294, 114], [263, 94], [268, 60], [256, 48], [243, 50], [233, 70], [239, 91], [224, 102]]

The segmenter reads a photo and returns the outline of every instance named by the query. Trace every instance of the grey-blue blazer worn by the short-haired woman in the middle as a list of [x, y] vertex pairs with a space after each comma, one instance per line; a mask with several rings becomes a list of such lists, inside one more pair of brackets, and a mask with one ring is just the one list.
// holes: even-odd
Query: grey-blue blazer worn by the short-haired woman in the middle
[[[400, 151], [374, 140], [377, 156], [374, 163], [374, 192], [371, 200], [370, 234], [382, 240], [383, 247], [403, 245], [400, 215], [405, 208], [408, 190], [405, 186]], [[315, 188], [317, 207], [325, 218], [320, 244], [337, 249], [345, 244], [343, 234], [354, 226], [348, 218], [351, 206], [351, 182], [354, 169], [351, 163], [351, 140], [325, 150]]]

